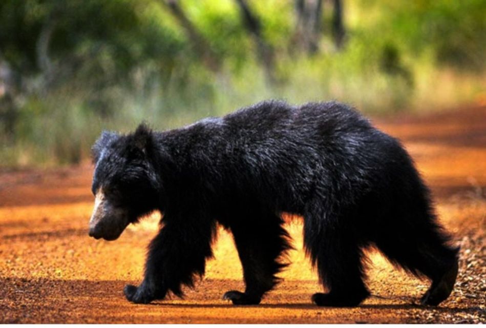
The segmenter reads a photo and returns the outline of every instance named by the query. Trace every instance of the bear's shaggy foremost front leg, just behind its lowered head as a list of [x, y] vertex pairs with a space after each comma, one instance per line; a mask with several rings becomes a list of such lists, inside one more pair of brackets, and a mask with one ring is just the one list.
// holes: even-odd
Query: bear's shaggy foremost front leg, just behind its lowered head
[[193, 286], [194, 275], [204, 274], [206, 258], [213, 255], [213, 222], [193, 222], [187, 217], [174, 220], [165, 215], [164, 223], [150, 243], [142, 283], [138, 287], [126, 285], [123, 289], [131, 302], [150, 303], [163, 299], [168, 291], [182, 297], [181, 285]]

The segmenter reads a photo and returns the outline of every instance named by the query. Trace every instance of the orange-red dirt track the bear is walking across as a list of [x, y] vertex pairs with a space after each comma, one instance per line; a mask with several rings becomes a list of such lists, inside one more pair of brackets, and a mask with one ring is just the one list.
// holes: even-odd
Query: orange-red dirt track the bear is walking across
[[320, 291], [302, 251], [300, 221], [289, 223], [297, 251], [283, 282], [258, 306], [233, 306], [225, 291], [242, 289], [231, 237], [224, 231], [216, 258], [184, 300], [127, 302], [125, 283], [142, 277], [145, 248], [157, 217], [129, 227], [114, 241], [88, 237], [92, 167], [0, 173], [0, 323], [353, 323], [486, 322], [486, 107], [375, 124], [402, 139], [437, 203], [442, 223], [461, 245], [460, 273], [438, 308], [416, 305], [427, 281], [407, 276], [376, 252], [372, 296], [350, 309], [318, 308]]

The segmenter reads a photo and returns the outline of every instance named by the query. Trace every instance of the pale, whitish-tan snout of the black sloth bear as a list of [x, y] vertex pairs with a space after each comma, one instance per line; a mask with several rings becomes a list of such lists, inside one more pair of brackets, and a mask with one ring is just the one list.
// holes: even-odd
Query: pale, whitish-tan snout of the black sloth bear
[[114, 207], [102, 191], [96, 194], [93, 214], [90, 219], [89, 235], [95, 239], [117, 239], [130, 223], [125, 210]]

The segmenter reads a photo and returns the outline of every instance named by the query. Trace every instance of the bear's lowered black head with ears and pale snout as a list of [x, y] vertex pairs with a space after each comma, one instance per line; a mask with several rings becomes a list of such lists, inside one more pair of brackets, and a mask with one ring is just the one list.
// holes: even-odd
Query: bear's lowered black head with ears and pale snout
[[158, 208], [154, 152], [153, 132], [143, 124], [128, 135], [104, 131], [95, 142], [91, 237], [115, 240], [130, 223]]

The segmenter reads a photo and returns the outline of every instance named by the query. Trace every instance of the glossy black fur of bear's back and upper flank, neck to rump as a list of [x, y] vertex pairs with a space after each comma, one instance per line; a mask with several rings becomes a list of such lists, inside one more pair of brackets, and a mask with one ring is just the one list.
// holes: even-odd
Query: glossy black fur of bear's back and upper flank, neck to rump
[[264, 101], [164, 135], [172, 136], [162, 139], [180, 172], [205, 181], [224, 201], [259, 195], [289, 212], [316, 190], [339, 191], [339, 202], [354, 202], [382, 178], [377, 168], [393, 161], [390, 151], [403, 152], [360, 113], [335, 102]]

